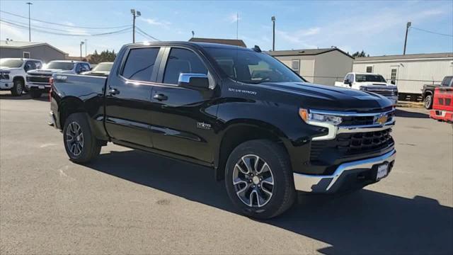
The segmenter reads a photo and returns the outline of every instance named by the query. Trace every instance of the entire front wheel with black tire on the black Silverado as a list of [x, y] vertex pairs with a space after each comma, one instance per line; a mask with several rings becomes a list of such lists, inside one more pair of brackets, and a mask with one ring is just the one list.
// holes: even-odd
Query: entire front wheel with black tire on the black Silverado
[[225, 186], [236, 208], [260, 220], [282, 214], [296, 198], [289, 157], [282, 146], [269, 140], [243, 142], [231, 152]]

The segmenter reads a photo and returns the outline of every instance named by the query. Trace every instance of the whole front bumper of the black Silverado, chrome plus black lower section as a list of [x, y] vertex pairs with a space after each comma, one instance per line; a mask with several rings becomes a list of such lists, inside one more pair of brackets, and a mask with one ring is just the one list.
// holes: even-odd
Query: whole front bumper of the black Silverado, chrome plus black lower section
[[362, 159], [340, 164], [331, 175], [309, 175], [294, 173], [294, 187], [297, 191], [310, 193], [336, 193], [351, 186], [366, 186], [375, 183], [377, 166], [389, 164], [389, 173], [394, 166], [396, 150], [379, 157]]

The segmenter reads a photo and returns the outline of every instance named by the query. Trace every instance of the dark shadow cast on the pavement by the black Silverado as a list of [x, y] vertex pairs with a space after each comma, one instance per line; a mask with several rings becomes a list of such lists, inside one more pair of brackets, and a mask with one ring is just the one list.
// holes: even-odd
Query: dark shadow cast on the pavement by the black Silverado
[[[87, 165], [140, 185], [234, 211], [223, 182], [193, 164], [139, 151], [108, 152]], [[301, 196], [266, 224], [330, 246], [322, 254], [452, 254], [453, 209], [437, 200], [362, 190], [342, 196]]]

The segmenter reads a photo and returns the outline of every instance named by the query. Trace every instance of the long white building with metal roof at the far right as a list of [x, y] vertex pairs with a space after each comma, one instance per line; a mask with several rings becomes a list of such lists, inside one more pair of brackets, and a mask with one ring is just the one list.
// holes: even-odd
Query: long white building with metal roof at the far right
[[400, 98], [421, 96], [424, 84], [440, 84], [453, 75], [453, 52], [357, 57], [353, 72], [381, 74], [398, 86]]

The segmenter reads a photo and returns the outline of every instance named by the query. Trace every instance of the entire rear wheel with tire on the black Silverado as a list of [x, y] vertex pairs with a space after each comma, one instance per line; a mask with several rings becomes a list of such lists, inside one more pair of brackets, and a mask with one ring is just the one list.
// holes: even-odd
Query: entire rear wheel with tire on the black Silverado
[[91, 132], [86, 113], [69, 115], [64, 122], [63, 142], [69, 159], [77, 164], [91, 162], [101, 152], [101, 146]]

